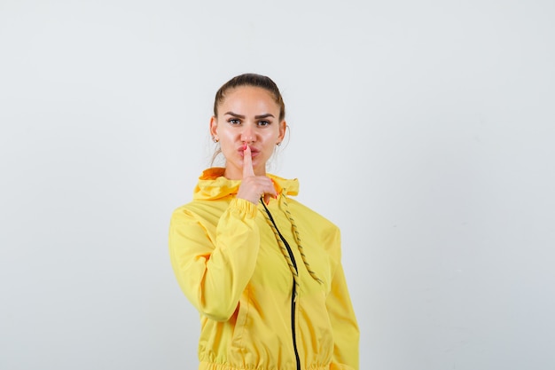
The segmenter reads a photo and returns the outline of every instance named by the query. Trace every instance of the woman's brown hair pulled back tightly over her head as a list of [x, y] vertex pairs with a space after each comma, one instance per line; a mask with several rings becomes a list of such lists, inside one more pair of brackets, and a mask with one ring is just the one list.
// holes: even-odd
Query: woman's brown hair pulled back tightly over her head
[[222, 104], [223, 99], [225, 98], [225, 94], [228, 91], [241, 86], [260, 87], [270, 92], [270, 94], [274, 97], [277, 106], [279, 106], [279, 121], [281, 122], [285, 119], [285, 103], [284, 99], [281, 97], [279, 89], [277, 88], [277, 84], [274, 83], [270, 79], [270, 77], [256, 74], [236, 75], [235, 77], [231, 78], [230, 81], [223, 84], [223, 86], [215, 93], [214, 115], [216, 117], [218, 116], [218, 106]]

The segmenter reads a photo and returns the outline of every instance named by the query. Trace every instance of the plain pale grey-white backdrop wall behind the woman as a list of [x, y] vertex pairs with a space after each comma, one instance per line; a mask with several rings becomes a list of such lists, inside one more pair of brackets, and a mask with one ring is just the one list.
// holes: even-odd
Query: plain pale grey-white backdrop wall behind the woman
[[551, 0], [0, 0], [0, 368], [194, 369], [168, 221], [215, 91], [338, 224], [361, 369], [555, 367]]

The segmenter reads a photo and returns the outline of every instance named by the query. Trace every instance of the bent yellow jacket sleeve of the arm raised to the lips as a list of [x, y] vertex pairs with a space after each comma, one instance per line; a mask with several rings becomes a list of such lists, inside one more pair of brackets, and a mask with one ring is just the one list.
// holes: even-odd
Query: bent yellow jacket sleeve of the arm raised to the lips
[[209, 319], [230, 319], [251, 279], [260, 248], [256, 212], [250, 201], [233, 199], [219, 219], [215, 238], [186, 209], [176, 209], [171, 217], [169, 254], [177, 281]]

